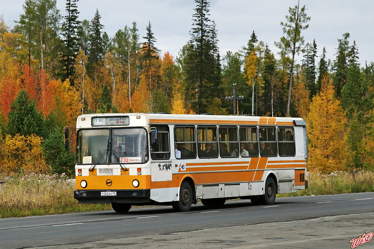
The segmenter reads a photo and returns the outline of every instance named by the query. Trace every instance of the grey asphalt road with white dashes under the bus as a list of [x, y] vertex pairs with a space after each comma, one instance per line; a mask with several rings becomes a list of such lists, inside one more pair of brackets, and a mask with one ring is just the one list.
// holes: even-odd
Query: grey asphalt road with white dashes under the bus
[[[350, 248], [374, 230], [374, 193], [0, 219], [0, 248]], [[374, 239], [360, 248], [374, 248]]]

